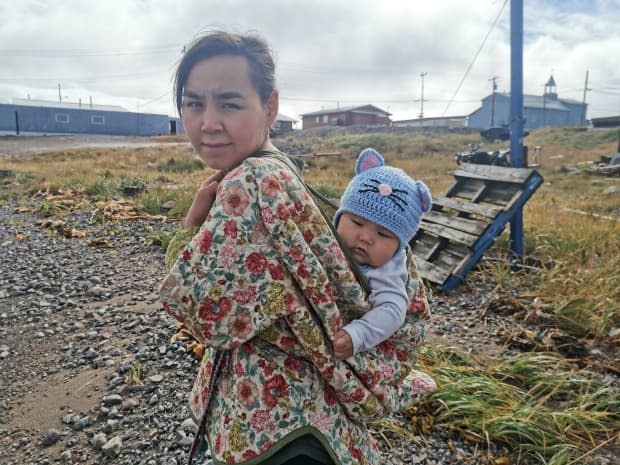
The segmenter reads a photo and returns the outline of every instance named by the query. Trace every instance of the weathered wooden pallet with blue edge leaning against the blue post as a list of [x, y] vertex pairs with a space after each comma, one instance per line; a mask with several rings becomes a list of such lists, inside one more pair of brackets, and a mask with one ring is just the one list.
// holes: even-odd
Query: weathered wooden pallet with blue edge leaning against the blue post
[[543, 182], [533, 169], [475, 164], [460, 165], [454, 177], [410, 243], [422, 277], [443, 292], [465, 279]]

